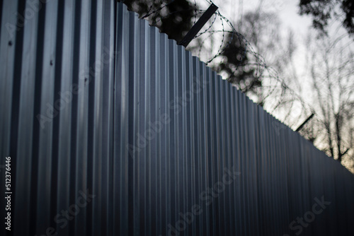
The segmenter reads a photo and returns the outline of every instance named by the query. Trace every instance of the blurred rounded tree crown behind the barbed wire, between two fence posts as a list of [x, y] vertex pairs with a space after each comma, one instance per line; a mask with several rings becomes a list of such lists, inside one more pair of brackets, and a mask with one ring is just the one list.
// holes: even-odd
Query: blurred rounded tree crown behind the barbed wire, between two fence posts
[[[251, 11], [244, 14], [239, 25], [239, 33], [244, 39], [229, 33], [222, 57], [224, 60], [216, 66], [217, 71], [226, 73], [227, 80], [234, 83], [242, 92], [264, 105], [274, 90], [265, 79], [274, 76], [289, 60], [285, 57], [287, 49], [280, 35], [280, 20], [275, 13]], [[294, 46], [294, 45], [292, 45]], [[265, 88], [268, 86], [268, 88]], [[282, 88], [281, 85], [275, 85]]]

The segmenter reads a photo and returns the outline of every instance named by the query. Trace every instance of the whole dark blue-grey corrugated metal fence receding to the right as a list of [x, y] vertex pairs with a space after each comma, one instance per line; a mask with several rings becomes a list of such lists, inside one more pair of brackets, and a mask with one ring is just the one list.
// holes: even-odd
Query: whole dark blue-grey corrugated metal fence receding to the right
[[354, 235], [353, 175], [124, 5], [0, 5], [13, 235]]

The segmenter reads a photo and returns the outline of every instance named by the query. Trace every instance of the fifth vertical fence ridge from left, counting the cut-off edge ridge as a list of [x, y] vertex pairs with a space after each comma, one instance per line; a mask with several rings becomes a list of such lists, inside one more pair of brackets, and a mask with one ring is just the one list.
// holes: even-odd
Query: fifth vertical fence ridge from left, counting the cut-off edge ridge
[[[79, 93], [77, 100], [77, 127], [76, 127], [76, 153], [74, 157], [76, 159], [75, 170], [75, 187], [74, 198], [79, 198], [79, 191], [86, 191], [87, 189], [87, 176], [89, 166], [89, 153], [88, 153], [88, 141], [89, 141], [89, 110], [91, 110], [89, 104], [89, 87], [90, 83], [94, 79], [94, 76], [90, 74], [88, 70], [90, 68], [90, 62], [92, 61], [91, 47], [91, 3], [87, 1], [80, 2], [81, 21], [80, 21], [80, 35], [76, 40], [80, 41], [79, 44]], [[94, 41], [93, 41], [94, 42]], [[91, 119], [91, 117], [90, 117]], [[90, 174], [91, 175], [91, 174]], [[87, 208], [80, 209], [81, 214], [78, 214], [74, 220], [74, 234], [86, 235], [86, 212]]]

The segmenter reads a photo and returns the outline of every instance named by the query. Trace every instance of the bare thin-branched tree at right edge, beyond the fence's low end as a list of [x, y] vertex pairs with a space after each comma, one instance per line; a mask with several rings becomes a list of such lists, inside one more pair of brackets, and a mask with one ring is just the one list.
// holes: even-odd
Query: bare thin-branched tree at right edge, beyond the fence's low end
[[354, 54], [345, 37], [313, 38], [306, 43], [311, 89], [304, 93], [316, 119], [301, 134], [334, 159], [353, 161]]

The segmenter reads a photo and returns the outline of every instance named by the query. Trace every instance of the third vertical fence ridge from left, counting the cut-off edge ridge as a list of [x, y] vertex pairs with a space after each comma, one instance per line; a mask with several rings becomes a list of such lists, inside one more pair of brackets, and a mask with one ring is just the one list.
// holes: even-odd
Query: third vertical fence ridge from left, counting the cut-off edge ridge
[[[36, 83], [42, 83], [40, 86], [36, 85], [37, 96], [35, 95], [35, 104], [40, 105], [40, 109], [35, 110], [35, 113], [40, 112], [40, 114], [45, 114], [47, 105], [54, 105], [55, 109], [59, 106], [61, 107], [64, 104], [58, 104], [55, 102], [55, 94], [52, 91], [55, 91], [55, 54], [56, 54], [56, 40], [51, 40], [52, 37], [56, 38], [57, 35], [57, 3], [52, 2], [46, 4], [42, 11], [40, 11], [40, 20], [38, 21], [38, 45], [43, 45], [42, 50], [38, 50], [38, 62], [42, 65], [38, 66], [38, 71], [36, 75]], [[49, 12], [54, 11], [53, 14], [48, 14]], [[44, 15], [44, 16], [43, 16]], [[45, 17], [45, 18], [44, 18]], [[40, 35], [42, 33], [42, 35]], [[39, 59], [41, 58], [41, 59]], [[40, 70], [40, 71], [39, 71]], [[39, 90], [39, 91], [38, 91]], [[39, 97], [39, 98], [38, 98]], [[38, 98], [36, 100], [36, 98]], [[52, 191], [52, 180], [57, 177], [54, 176], [56, 172], [52, 171], [52, 165], [56, 165], [56, 161], [53, 160], [55, 155], [53, 154], [53, 147], [55, 143], [53, 141], [54, 129], [53, 122], [46, 124], [38, 123], [38, 114], [35, 114], [37, 119], [34, 120], [34, 132], [38, 133], [38, 179], [37, 179], [37, 202], [40, 203], [36, 207], [37, 212], [37, 221], [35, 232], [46, 232], [47, 227], [52, 225], [51, 219], [47, 216], [52, 216], [50, 200], [51, 191]], [[54, 145], [52, 145], [54, 144]], [[35, 147], [36, 148], [36, 147]], [[34, 189], [34, 188], [33, 188]], [[55, 199], [53, 199], [55, 200]], [[45, 219], [45, 220], [44, 220]]]

